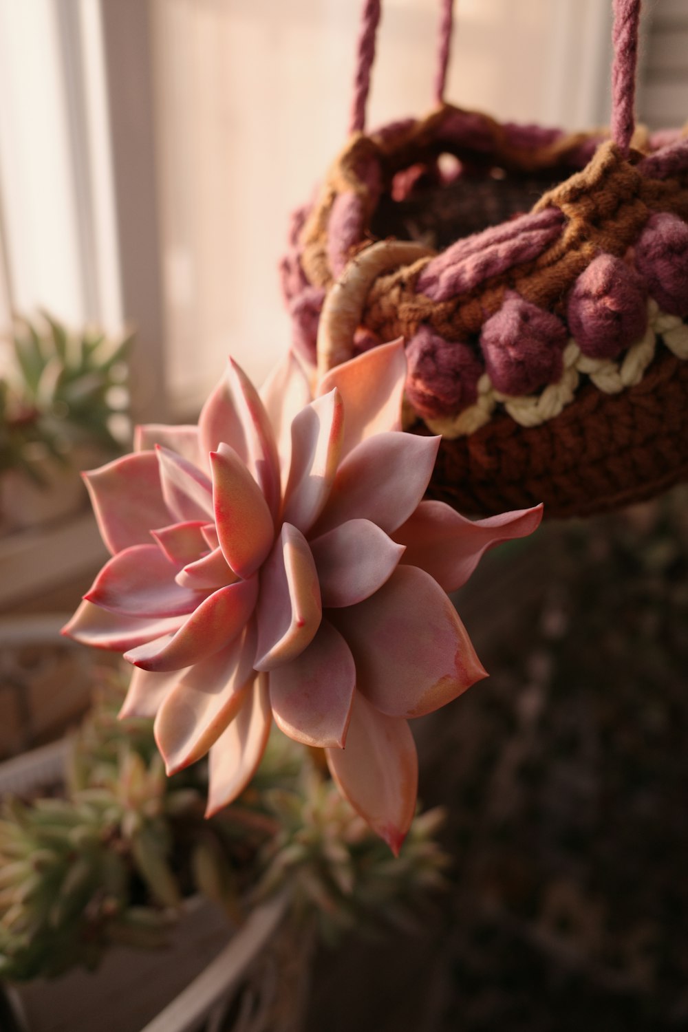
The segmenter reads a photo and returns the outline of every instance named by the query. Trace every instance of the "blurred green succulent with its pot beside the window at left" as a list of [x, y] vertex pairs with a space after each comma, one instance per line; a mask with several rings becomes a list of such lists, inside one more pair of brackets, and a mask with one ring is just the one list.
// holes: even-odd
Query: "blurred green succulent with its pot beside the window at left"
[[18, 319], [0, 380], [0, 514], [7, 529], [77, 509], [78, 471], [111, 457], [130, 437], [131, 336], [70, 332], [47, 314]]

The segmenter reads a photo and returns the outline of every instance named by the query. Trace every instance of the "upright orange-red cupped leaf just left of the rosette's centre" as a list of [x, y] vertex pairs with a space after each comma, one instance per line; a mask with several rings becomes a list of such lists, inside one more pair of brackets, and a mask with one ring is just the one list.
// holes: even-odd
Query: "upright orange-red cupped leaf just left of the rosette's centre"
[[258, 570], [272, 547], [274, 524], [260, 488], [231, 448], [210, 452], [215, 524], [227, 562], [239, 577]]

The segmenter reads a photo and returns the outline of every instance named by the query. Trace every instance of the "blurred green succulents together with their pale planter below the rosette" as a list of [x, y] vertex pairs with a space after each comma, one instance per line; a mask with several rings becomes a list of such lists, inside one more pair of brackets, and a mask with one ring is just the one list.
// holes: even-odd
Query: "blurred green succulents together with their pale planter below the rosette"
[[[405, 924], [441, 884], [440, 814], [417, 817], [393, 862], [318, 757], [275, 735], [249, 788], [205, 819], [205, 765], [167, 778], [152, 722], [118, 720], [122, 699], [103, 674], [66, 747], [21, 757], [19, 778], [17, 761], [0, 768], [23, 797], [0, 820], [0, 971], [17, 1027], [90, 1032], [106, 1008], [118, 1032], [163, 1019], [183, 1032], [249, 994], [283, 1007], [271, 1028], [291, 1028], [316, 926], [331, 940], [370, 917]], [[232, 1025], [207, 1025], [220, 1027]]]

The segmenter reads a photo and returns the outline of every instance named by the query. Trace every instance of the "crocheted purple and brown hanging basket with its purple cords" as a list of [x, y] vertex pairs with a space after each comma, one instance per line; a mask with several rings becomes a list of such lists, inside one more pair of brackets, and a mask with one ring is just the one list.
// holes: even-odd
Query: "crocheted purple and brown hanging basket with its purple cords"
[[322, 375], [403, 336], [404, 428], [443, 436], [429, 494], [464, 512], [588, 515], [688, 473], [688, 138], [635, 127], [640, 0], [614, 8], [611, 134], [444, 103], [446, 0], [437, 109], [366, 135], [366, 0], [354, 132], [295, 216], [294, 347]]

